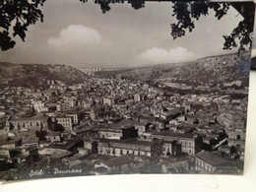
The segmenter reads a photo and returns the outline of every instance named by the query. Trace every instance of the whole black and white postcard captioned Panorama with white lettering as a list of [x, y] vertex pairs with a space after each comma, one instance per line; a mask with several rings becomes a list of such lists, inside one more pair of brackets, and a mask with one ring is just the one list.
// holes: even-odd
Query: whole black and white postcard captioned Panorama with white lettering
[[254, 13], [0, 1], [0, 180], [242, 175]]

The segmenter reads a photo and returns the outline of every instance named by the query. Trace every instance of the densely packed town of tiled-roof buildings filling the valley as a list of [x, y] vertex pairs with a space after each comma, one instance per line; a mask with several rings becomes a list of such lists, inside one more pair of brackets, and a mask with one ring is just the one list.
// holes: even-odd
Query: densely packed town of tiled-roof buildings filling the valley
[[[227, 60], [227, 70], [238, 62]], [[1, 81], [2, 180], [243, 172], [248, 87], [242, 80], [187, 81], [173, 73], [145, 81], [131, 78], [131, 70], [115, 77], [97, 71], [109, 72], [95, 70], [73, 85], [53, 79], [10, 87], [12, 79]]]

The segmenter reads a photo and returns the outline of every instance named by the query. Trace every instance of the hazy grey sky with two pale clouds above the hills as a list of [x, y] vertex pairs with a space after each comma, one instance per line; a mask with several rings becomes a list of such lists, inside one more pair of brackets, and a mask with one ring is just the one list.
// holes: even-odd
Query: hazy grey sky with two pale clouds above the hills
[[146, 2], [134, 10], [130, 4], [99, 5], [79, 0], [48, 0], [42, 7], [43, 23], [29, 28], [26, 40], [0, 52], [12, 63], [65, 64], [83, 68], [126, 68], [175, 63], [234, 52], [223, 50], [224, 34], [242, 20], [232, 8], [222, 20], [210, 12], [195, 22], [193, 32], [173, 40], [176, 23], [170, 2]]

